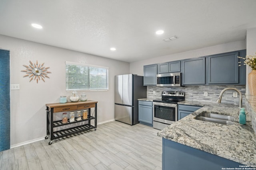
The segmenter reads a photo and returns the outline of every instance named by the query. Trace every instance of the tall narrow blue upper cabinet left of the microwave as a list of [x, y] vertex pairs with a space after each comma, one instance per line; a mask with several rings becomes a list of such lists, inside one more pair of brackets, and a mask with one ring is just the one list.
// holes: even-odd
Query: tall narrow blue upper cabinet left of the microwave
[[157, 64], [144, 66], [144, 86], [156, 86]]

